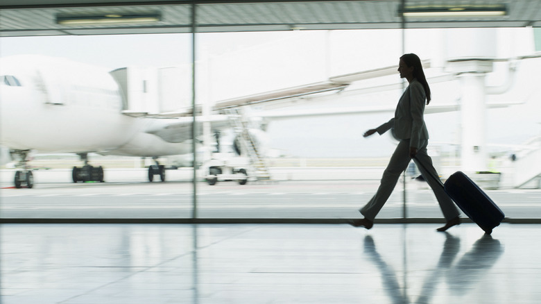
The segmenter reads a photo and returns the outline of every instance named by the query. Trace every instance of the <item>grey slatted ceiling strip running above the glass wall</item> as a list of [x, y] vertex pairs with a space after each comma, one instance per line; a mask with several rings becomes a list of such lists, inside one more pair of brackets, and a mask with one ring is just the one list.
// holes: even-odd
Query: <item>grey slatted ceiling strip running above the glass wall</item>
[[[506, 6], [497, 17], [406, 17], [406, 28], [541, 26], [539, 0], [406, 0], [406, 7]], [[0, 37], [33, 35], [113, 35], [196, 31], [291, 31], [402, 28], [401, 0], [361, 1], [157, 1], [2, 0]], [[125, 24], [57, 24], [58, 16], [158, 15], [160, 20]]]

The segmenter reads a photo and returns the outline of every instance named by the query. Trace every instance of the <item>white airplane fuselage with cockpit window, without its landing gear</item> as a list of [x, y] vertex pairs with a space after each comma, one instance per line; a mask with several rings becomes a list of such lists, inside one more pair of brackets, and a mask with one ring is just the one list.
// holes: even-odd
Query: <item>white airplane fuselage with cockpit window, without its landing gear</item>
[[122, 115], [119, 87], [106, 69], [42, 56], [0, 60], [1, 146], [140, 157], [190, 151], [189, 142], [145, 133], [159, 119]]

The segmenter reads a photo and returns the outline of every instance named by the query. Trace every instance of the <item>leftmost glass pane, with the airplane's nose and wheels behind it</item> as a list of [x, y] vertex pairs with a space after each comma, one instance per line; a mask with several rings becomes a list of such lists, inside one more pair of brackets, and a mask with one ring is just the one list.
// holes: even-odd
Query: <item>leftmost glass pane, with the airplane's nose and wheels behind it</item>
[[144, 117], [189, 112], [191, 34], [0, 40], [3, 218], [191, 217], [191, 118]]

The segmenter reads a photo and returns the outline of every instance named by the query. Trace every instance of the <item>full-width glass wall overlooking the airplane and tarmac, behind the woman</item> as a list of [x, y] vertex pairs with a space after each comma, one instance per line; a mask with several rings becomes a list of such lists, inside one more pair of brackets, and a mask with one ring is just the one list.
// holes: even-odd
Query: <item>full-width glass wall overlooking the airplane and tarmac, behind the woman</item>
[[[2, 119], [1, 217], [359, 217], [398, 143], [391, 132], [363, 133], [393, 117], [408, 85], [398, 60], [416, 53], [431, 87], [425, 122], [440, 177], [465, 171], [507, 217], [538, 218], [537, 33], [395, 28], [1, 37], [3, 62], [46, 56], [20, 67], [21, 76], [17, 66], [0, 67], [0, 113], [17, 117]], [[108, 82], [119, 90], [102, 99]], [[33, 189], [14, 187], [21, 155]], [[73, 169], [85, 157], [105, 169], [105, 183], [100, 171], [85, 176]], [[442, 217], [413, 163], [378, 214], [403, 217]]]

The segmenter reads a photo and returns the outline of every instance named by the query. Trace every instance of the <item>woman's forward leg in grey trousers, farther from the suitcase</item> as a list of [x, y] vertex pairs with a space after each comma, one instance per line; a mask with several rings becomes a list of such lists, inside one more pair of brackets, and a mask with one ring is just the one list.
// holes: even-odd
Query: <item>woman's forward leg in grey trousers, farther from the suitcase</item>
[[370, 221], [374, 221], [379, 210], [388, 200], [390, 194], [395, 189], [398, 178], [402, 171], [408, 167], [411, 158], [409, 157], [409, 140], [401, 140], [395, 149], [395, 153], [391, 156], [387, 169], [385, 169], [381, 177], [381, 183], [376, 194], [368, 201], [368, 203], [359, 210], [364, 217]]

